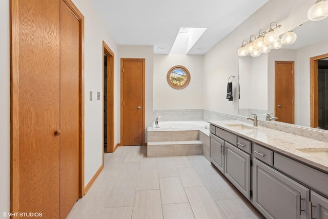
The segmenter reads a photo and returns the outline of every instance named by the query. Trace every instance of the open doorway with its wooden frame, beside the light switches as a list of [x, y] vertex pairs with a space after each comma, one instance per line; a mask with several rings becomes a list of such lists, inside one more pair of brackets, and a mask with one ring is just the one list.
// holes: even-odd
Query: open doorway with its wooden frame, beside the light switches
[[114, 152], [114, 53], [103, 41], [103, 152]]

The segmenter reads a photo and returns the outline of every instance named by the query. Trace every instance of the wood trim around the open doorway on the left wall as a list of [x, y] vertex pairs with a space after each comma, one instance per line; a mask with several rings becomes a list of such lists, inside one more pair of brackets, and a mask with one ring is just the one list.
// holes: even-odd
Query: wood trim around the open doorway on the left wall
[[[114, 152], [114, 52], [103, 41], [103, 91], [104, 91], [104, 54], [107, 55], [107, 152]], [[108, 128], [110, 127], [110, 128]], [[104, 145], [104, 98], [103, 98], [103, 145]], [[110, 141], [108, 141], [110, 140]], [[110, 143], [110, 144], [108, 144]], [[104, 150], [103, 150], [104, 155]], [[103, 156], [104, 157], [104, 156]], [[104, 159], [104, 158], [103, 158]], [[103, 161], [104, 164], [104, 161]]]

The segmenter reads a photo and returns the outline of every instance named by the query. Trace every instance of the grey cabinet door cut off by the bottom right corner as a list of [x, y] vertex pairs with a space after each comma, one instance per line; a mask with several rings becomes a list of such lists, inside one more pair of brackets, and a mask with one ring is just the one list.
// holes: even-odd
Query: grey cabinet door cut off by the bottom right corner
[[312, 217], [328, 219], [328, 199], [311, 191]]

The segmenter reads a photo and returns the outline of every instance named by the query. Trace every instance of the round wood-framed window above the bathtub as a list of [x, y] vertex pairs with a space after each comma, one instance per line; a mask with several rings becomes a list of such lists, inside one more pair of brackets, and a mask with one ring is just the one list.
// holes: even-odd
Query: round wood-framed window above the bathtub
[[171, 87], [182, 89], [188, 86], [190, 82], [190, 73], [186, 67], [173, 66], [169, 70], [166, 78]]

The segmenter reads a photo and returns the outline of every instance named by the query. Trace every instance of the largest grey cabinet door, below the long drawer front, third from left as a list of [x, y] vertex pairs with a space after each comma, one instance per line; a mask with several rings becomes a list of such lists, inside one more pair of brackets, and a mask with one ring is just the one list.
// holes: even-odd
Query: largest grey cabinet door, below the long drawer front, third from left
[[266, 218], [306, 218], [310, 190], [254, 158], [253, 205]]

